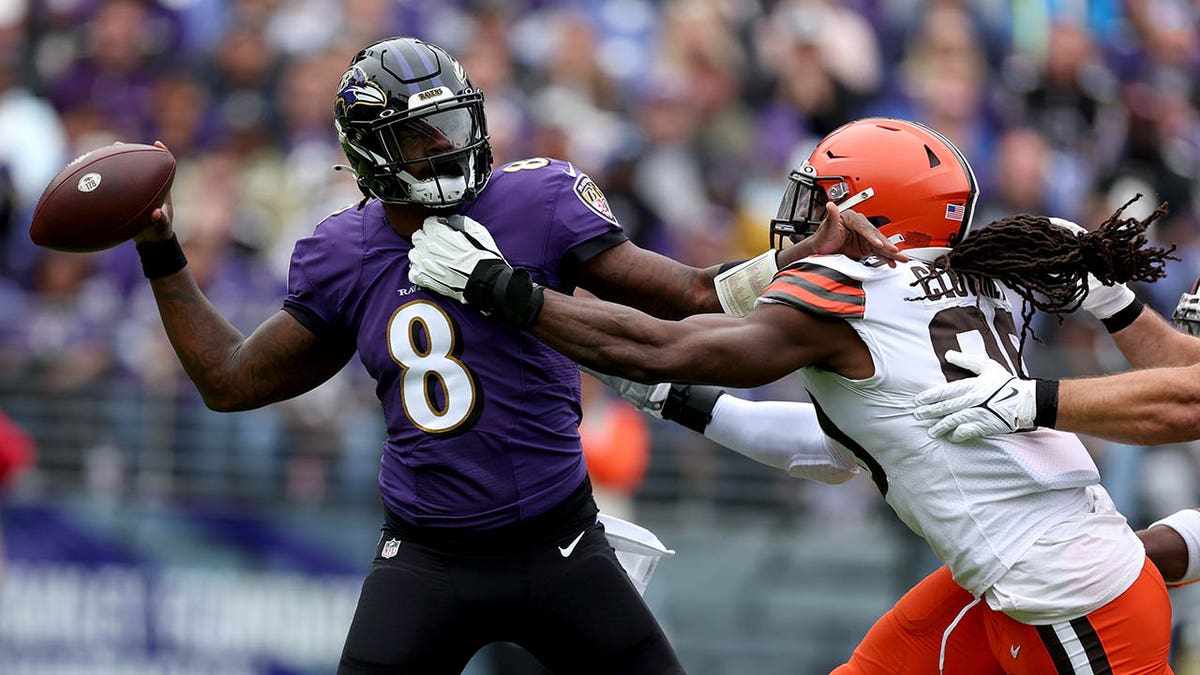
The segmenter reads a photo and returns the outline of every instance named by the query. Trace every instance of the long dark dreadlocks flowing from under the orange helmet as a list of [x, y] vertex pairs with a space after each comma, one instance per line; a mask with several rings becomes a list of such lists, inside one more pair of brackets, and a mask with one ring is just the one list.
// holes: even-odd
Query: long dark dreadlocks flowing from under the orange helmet
[[1134, 196], [1084, 234], [1055, 226], [1046, 216], [1008, 216], [974, 231], [932, 264], [971, 281], [998, 281], [1021, 297], [1020, 353], [1026, 333], [1040, 342], [1030, 327], [1033, 312], [1042, 310], [1062, 323], [1063, 315], [1078, 310], [1087, 297], [1088, 273], [1105, 286], [1151, 282], [1166, 275], [1168, 259], [1178, 259], [1171, 255], [1174, 244], [1169, 249], [1147, 245], [1146, 228], [1166, 215], [1165, 203], [1142, 220], [1121, 217], [1139, 198]]

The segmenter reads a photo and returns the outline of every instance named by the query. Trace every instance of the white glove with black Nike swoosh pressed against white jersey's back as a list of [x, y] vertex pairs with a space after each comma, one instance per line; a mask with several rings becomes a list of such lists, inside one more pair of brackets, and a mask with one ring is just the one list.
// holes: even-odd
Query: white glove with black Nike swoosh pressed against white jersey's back
[[1033, 380], [1014, 377], [998, 363], [962, 352], [947, 352], [946, 360], [977, 372], [978, 377], [940, 384], [917, 394], [917, 419], [938, 419], [929, 435], [949, 435], [955, 443], [1028, 431], [1036, 425], [1037, 396]]

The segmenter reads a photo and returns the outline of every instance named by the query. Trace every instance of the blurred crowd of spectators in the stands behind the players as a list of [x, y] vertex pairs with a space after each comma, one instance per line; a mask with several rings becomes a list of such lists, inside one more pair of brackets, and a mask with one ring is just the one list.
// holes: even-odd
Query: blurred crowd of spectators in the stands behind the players
[[[497, 163], [569, 159], [635, 241], [685, 262], [760, 252], [784, 179], [815, 142], [895, 115], [971, 160], [978, 226], [1039, 213], [1094, 227], [1135, 193], [1130, 213], [1169, 202], [1153, 235], [1177, 244], [1180, 262], [1139, 289], [1169, 315], [1200, 273], [1198, 24], [1194, 0], [6, 0], [0, 408], [59, 448], [43, 465], [114, 495], [169, 492], [180, 477], [300, 502], [372, 495], [383, 426], [361, 369], [288, 404], [210, 413], [158, 328], [132, 245], [53, 253], [26, 233], [70, 159], [162, 139], [179, 160], [191, 269], [248, 331], [280, 307], [295, 239], [359, 198], [331, 171], [343, 161], [332, 96], [354, 52], [388, 35], [461, 59], [485, 91]], [[1037, 374], [1122, 368], [1096, 322], [1036, 329]], [[785, 381], [754, 395], [803, 390]], [[655, 447], [684, 448], [670, 455], [682, 490], [712, 492], [730, 460], [653, 429]], [[1172, 482], [1154, 497], [1169, 503], [1147, 510], [1200, 503], [1190, 447], [1094, 448], [1116, 467], [1106, 483], [1128, 488], [1115, 489], [1133, 500], [1127, 512], [1147, 506], [1147, 471]], [[786, 479], [778, 492], [806, 498]]]

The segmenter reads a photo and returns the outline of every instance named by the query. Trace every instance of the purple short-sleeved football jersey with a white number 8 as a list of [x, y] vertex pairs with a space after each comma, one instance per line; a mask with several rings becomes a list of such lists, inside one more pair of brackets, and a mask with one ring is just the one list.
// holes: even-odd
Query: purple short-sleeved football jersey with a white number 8
[[[570, 264], [624, 240], [604, 195], [557, 160], [512, 162], [461, 211], [515, 267], [570, 292]], [[491, 528], [578, 488], [576, 364], [528, 333], [408, 281], [412, 243], [370, 202], [296, 243], [289, 305], [355, 335], [388, 425], [379, 489], [427, 526]]]

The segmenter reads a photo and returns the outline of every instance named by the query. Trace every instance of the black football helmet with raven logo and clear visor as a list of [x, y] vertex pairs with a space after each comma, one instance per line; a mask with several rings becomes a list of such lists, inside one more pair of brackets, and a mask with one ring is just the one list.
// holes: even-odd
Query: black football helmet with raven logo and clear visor
[[382, 202], [455, 207], [492, 175], [482, 91], [454, 56], [413, 37], [350, 59], [334, 126], [359, 190]]

